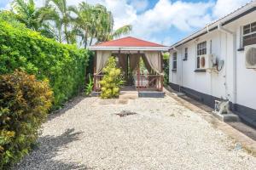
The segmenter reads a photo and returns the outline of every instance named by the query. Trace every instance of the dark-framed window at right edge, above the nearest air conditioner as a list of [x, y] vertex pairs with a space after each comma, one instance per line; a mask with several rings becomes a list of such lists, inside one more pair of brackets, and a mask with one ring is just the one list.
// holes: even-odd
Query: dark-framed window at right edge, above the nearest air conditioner
[[242, 47], [256, 44], [256, 22], [243, 26]]

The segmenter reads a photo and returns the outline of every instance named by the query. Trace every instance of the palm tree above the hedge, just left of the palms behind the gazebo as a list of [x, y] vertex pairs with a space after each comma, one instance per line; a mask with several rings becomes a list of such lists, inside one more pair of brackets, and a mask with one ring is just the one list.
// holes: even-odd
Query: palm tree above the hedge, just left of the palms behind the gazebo
[[[66, 40], [67, 43], [70, 43], [70, 31], [68, 29], [70, 29], [71, 10], [67, 6], [67, 0], [46, 0], [45, 7], [49, 8], [50, 11], [51, 18], [49, 20], [55, 22], [59, 42]], [[65, 37], [61, 34], [62, 28], [64, 29]]]

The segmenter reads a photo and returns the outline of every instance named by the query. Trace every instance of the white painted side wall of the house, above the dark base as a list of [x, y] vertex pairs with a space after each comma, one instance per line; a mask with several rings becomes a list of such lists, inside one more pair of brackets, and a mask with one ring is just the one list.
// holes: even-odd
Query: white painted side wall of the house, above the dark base
[[[232, 103], [243, 105], [256, 110], [256, 71], [245, 67], [245, 52], [236, 50], [236, 92], [234, 93], [234, 48], [241, 46], [241, 26], [256, 21], [256, 12], [235, 20], [228, 26], [230, 31], [236, 32], [236, 46], [233, 36], [223, 31], [212, 31], [195, 40], [177, 47], [177, 71], [172, 71], [172, 54], [170, 55], [170, 82], [184, 88], [190, 88], [202, 94], [208, 94], [217, 98], [229, 99]], [[196, 45], [207, 41], [207, 54], [210, 53], [210, 41], [212, 40], [212, 54], [216, 54], [218, 60], [224, 60], [224, 67], [216, 72], [195, 72]], [[183, 61], [184, 48], [188, 48], [188, 60]], [[236, 101], [235, 101], [236, 94]]]

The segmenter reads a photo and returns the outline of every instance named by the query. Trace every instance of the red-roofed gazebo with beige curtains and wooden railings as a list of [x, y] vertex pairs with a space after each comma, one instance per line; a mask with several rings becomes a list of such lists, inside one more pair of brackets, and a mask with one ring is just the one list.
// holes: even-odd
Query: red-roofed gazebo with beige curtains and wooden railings
[[[148, 42], [135, 37], [123, 37], [90, 46], [96, 52], [94, 60], [94, 91], [100, 92], [102, 69], [108, 58], [113, 56], [123, 72], [126, 87], [138, 91], [163, 91], [163, 57], [162, 53], [168, 47]], [[142, 72], [140, 63], [143, 62], [147, 73]]]

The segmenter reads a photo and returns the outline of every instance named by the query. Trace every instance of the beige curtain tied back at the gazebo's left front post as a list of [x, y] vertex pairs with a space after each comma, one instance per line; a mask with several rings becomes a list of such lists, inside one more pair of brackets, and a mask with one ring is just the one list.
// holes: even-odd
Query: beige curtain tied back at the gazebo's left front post
[[102, 72], [103, 67], [107, 64], [108, 58], [111, 56], [111, 51], [97, 51], [96, 59], [96, 74]]

